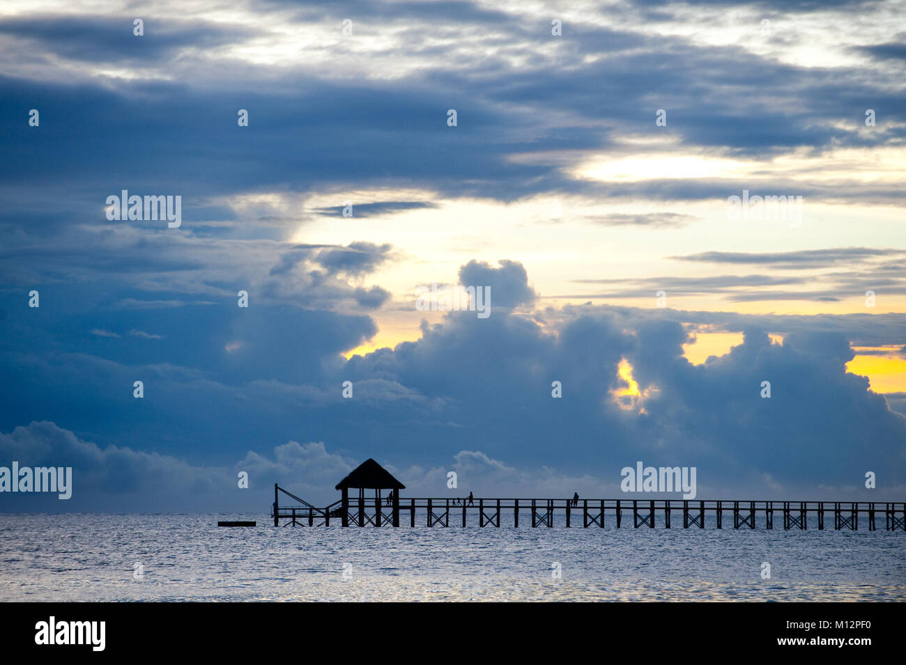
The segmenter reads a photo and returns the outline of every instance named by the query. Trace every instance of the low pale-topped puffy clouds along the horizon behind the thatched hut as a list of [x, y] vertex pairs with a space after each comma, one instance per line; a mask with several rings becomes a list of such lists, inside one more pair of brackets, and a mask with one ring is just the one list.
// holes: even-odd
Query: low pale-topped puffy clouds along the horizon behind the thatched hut
[[[248, 451], [228, 467], [196, 466], [170, 455], [117, 446], [101, 448], [46, 422], [16, 427], [8, 434], [0, 432], [0, 456], [7, 465], [18, 461], [20, 468], [72, 467], [70, 499], [60, 500], [55, 493], [3, 495], [4, 509], [26, 512], [169, 512], [182, 511], [192, 503], [202, 511], [265, 514], [274, 498], [274, 482], [316, 506], [327, 506], [339, 499], [334, 485], [364, 461], [330, 452], [323, 442], [290, 441], [266, 454]], [[561, 496], [578, 489], [603, 496], [603, 489], [612, 493], [617, 486], [546, 467], [516, 469], [480, 451], [459, 451], [443, 468], [431, 470], [418, 466], [400, 470], [387, 461], [382, 464], [405, 479], [410, 496], [454, 495], [447, 488], [447, 469], [456, 470], [460, 482], [478, 495], [503, 491], [524, 496], [534, 490], [544, 496]], [[239, 487], [240, 473], [246, 474], [248, 489]], [[278, 500], [296, 505], [285, 495]]]

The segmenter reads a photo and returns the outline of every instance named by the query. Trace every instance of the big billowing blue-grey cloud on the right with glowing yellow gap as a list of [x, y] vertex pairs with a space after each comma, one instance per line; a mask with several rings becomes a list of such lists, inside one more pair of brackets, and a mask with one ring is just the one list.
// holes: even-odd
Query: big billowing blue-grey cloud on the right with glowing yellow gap
[[[891, 486], [902, 482], [906, 420], [864, 377], [846, 372], [853, 352], [843, 334], [790, 333], [777, 345], [750, 325], [742, 345], [692, 366], [682, 350], [688, 333], [660, 312], [571, 308], [545, 320], [544, 331], [513, 316], [488, 322], [493, 331], [450, 317], [392, 354], [353, 358], [345, 374], [396, 377], [420, 394], [444, 395], [465, 429], [438, 427], [436, 445], [465, 437], [511, 461], [538, 463], [556, 450], [603, 478], [638, 459], [697, 465], [699, 479], [729, 491], [731, 478], [769, 491], [769, 474], [787, 494], [808, 493], [882, 464]], [[643, 411], [613, 404], [623, 358], [647, 394]], [[448, 366], [456, 375], [435, 370]], [[554, 380], [562, 400], [551, 397]], [[769, 400], [760, 396], [764, 380]]]

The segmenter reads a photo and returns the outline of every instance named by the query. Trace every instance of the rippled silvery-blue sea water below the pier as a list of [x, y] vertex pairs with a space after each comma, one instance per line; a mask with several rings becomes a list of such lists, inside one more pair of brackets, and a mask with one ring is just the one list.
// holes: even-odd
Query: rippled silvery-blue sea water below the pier
[[5, 514], [0, 601], [906, 600], [902, 531], [726, 523], [275, 528], [260, 514]]

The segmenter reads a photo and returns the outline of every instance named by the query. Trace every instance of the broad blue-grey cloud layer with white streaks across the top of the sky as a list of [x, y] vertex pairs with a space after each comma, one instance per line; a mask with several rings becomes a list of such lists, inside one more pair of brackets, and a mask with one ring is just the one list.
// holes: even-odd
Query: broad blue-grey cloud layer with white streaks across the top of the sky
[[[688, 201], [726, 200], [728, 193], [751, 185], [746, 178], [654, 175], [640, 183], [594, 182], [564, 172], [564, 151], [580, 158], [604, 152], [614, 157], [651, 154], [654, 147], [631, 140], [651, 125], [650, 111], [641, 110], [651, 107], [651, 90], [659, 91], [658, 105], [670, 110], [664, 133], [689, 153], [764, 160], [797, 148], [817, 153], [895, 146], [902, 138], [895, 72], [866, 76], [863, 63], [852, 59], [802, 66], [796, 62], [798, 35], [790, 43], [774, 40], [777, 53], [748, 49], [745, 40], [718, 46], [671, 33], [689, 23], [688, 8], [664, 10], [659, 5], [653, 14], [665, 29], [656, 33], [640, 20], [652, 15], [648, 7], [593, 9], [583, 21], [567, 18], [568, 34], [555, 40], [545, 9], [356, 4], [356, 15], [373, 18], [358, 21], [356, 39], [344, 40], [335, 16], [320, 8], [254, 6], [254, 11], [238, 6], [224, 14], [211, 10], [217, 21], [198, 15], [149, 18], [144, 37], [132, 35], [130, 18], [66, 11], [8, 17], [0, 23], [14, 39], [33, 45], [34, 52], [54, 53], [47, 59], [24, 58], [24, 48], [0, 52], [10, 72], [0, 79], [4, 111], [14, 117], [20, 109], [37, 108], [45, 119], [40, 132], [23, 122], [5, 138], [11, 152], [32, 156], [23, 164], [0, 167], [5, 168], [0, 170], [5, 182], [17, 187], [7, 195], [19, 203], [7, 204], [5, 215], [31, 214], [41, 224], [62, 223], [59, 216], [36, 214], [30, 203], [43, 200], [43, 208], [60, 207], [96, 219], [104, 196], [132, 184], [135, 191], [185, 191], [184, 233], [274, 237], [278, 231], [270, 224], [243, 224], [216, 199], [262, 192], [335, 194], [404, 184], [450, 198], [504, 202], [541, 193]], [[815, 20], [838, 24], [847, 15], [844, 9], [839, 5], [839, 13]], [[734, 10], [726, 5], [719, 11], [728, 19]], [[615, 16], [625, 20], [617, 27], [602, 25]], [[872, 7], [865, 20], [871, 24], [883, 16]], [[273, 24], [283, 25], [283, 33], [271, 30]], [[379, 25], [383, 40], [373, 38]], [[299, 43], [292, 37], [299, 31], [315, 36]], [[863, 48], [888, 44], [872, 43], [870, 30], [864, 34]], [[269, 40], [273, 51], [249, 49], [255, 39]], [[848, 48], [832, 42], [828, 38], [820, 46]], [[546, 54], [552, 49], [559, 63], [556, 95], [550, 94]], [[519, 62], [516, 78], [514, 59]], [[633, 71], [646, 76], [626, 75]], [[740, 79], [738, 71], [747, 71], [747, 77]], [[474, 94], [478, 80], [480, 95]], [[236, 90], [242, 90], [238, 98]], [[752, 99], [758, 103], [742, 101]], [[790, 99], [799, 103], [790, 105]], [[446, 126], [450, 100], [468, 100], [459, 103], [457, 128]], [[863, 110], [864, 100], [887, 109], [884, 118], [891, 124], [863, 132], [843, 123], [838, 109]], [[236, 126], [239, 108], [250, 112], [248, 128]], [[525, 108], [533, 112], [514, 110]], [[627, 116], [627, 109], [639, 110]], [[60, 118], [67, 122], [51, 121]], [[70, 126], [80, 132], [73, 135]], [[128, 143], [142, 159], [123, 163], [92, 149], [104, 141]], [[756, 170], [759, 184], [776, 191], [827, 196], [826, 184], [820, 182], [826, 180], [822, 167], [770, 177]], [[48, 187], [53, 196], [37, 194]], [[837, 178], [834, 195], [851, 202], [896, 203], [904, 194], [895, 183], [866, 187], [853, 178]], [[356, 214], [431, 205], [389, 199], [358, 204]], [[229, 223], [210, 223], [210, 214], [218, 210], [221, 221]], [[335, 211], [322, 207], [314, 213]], [[683, 221], [633, 216], [604, 217], [602, 222]], [[202, 219], [203, 227], [192, 227]]]

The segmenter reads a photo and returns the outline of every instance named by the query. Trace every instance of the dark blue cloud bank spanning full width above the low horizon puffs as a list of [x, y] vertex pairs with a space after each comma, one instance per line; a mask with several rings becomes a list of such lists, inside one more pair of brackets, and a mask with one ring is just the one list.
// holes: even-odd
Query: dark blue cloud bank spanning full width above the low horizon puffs
[[[495, 293], [509, 306], [533, 296], [515, 261], [497, 268], [473, 261], [462, 272], [464, 280], [487, 280], [492, 302]], [[50, 305], [77, 293], [51, 290], [42, 298]], [[305, 440], [329, 442], [344, 460], [380, 450], [390, 461], [439, 464], [468, 441], [469, 450], [527, 468], [550, 466], [555, 451], [558, 473], [605, 480], [619, 479], [622, 466], [641, 455], [696, 465], [699, 482], [725, 493], [745, 482], [795, 498], [819, 485], [851, 485], [853, 469], [882, 466], [892, 484], [906, 480], [906, 419], [867, 390], [867, 379], [845, 371], [853, 339], [863, 337], [865, 346], [872, 336], [906, 342], [902, 315], [567, 306], [525, 317], [494, 309], [487, 319], [451, 313], [438, 326], [425, 324], [417, 342], [343, 361], [343, 350], [373, 334], [371, 319], [254, 300], [247, 310], [230, 301], [66, 312], [44, 304], [30, 310], [24, 294], [6, 293], [2, 303], [10, 316], [0, 367], [17, 390], [0, 411], [0, 431], [53, 420], [63, 432], [43, 426], [38, 438], [52, 450], [63, 446], [62, 454], [75, 445], [73, 436], [103, 450], [128, 430], [134, 452], [122, 454], [135, 458], [134, 472], [144, 463], [137, 451], [172, 456], [156, 464], [172, 468], [174, 491], [198, 505], [207, 504], [180, 485], [195, 472], [187, 467], [203, 466], [198, 473], [210, 480], [201, 491], [216, 493], [217, 478], [228, 478], [223, 469], [246, 451], [272, 450], [299, 431]], [[739, 330], [745, 341], [692, 366], [682, 352], [689, 324]], [[92, 330], [153, 330], [163, 338], [98, 337]], [[786, 335], [785, 343], [771, 344], [767, 331]], [[623, 358], [647, 395], [644, 413], [612, 398], [623, 386]], [[142, 400], [131, 394], [136, 379], [145, 383]], [[352, 400], [341, 396], [347, 380], [355, 386]], [[551, 397], [554, 380], [564, 386], [562, 399]], [[759, 396], [764, 380], [772, 383], [769, 401]], [[102, 472], [100, 457], [94, 466], [80, 462], [82, 471]], [[254, 457], [273, 481], [275, 462], [261, 452]], [[765, 474], [782, 491], [766, 488]]]

